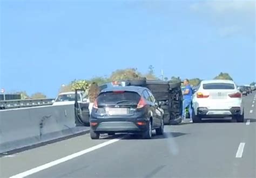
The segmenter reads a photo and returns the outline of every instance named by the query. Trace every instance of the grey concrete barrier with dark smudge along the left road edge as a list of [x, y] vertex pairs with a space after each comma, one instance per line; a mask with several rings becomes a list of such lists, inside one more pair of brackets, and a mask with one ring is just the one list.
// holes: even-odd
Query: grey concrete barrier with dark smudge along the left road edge
[[0, 153], [65, 137], [74, 132], [77, 132], [74, 105], [0, 111]]

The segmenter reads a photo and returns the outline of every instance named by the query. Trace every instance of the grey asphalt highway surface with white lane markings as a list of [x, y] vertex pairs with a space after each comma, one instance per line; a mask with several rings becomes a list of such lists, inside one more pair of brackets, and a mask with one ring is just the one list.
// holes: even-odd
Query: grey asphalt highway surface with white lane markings
[[164, 136], [89, 134], [0, 158], [0, 177], [256, 177], [256, 92], [245, 122], [165, 126]]

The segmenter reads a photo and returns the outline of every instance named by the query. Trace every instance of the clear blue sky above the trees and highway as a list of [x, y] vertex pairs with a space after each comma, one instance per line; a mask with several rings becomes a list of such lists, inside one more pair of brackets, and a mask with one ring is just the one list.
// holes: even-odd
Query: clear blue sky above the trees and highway
[[157, 75], [255, 81], [255, 1], [1, 1], [0, 87], [55, 97], [73, 79]]

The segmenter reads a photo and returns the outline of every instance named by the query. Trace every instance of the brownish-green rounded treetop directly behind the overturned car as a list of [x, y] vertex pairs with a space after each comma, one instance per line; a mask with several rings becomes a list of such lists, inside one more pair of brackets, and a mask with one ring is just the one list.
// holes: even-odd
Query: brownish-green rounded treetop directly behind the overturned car
[[124, 80], [124, 79], [140, 79], [142, 74], [138, 72], [137, 69], [128, 68], [128, 69], [118, 69], [114, 71], [111, 76], [111, 81]]

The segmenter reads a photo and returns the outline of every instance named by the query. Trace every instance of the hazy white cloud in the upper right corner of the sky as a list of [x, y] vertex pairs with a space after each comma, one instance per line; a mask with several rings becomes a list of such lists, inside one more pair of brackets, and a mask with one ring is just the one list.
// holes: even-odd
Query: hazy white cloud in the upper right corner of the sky
[[190, 9], [217, 26], [221, 37], [237, 33], [255, 37], [255, 5], [256, 1], [209, 0], [193, 3]]

